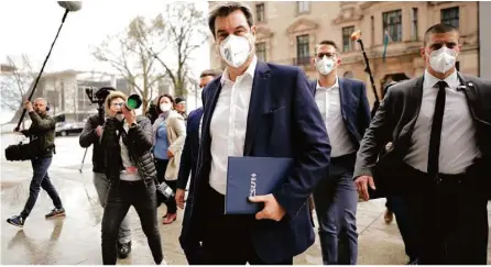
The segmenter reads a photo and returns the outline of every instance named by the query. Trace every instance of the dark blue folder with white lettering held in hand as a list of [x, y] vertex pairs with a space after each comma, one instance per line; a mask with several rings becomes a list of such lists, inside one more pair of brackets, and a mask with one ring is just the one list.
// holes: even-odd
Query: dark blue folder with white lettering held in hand
[[294, 160], [281, 157], [229, 157], [226, 214], [255, 214], [263, 203], [249, 197], [272, 193], [293, 170]]

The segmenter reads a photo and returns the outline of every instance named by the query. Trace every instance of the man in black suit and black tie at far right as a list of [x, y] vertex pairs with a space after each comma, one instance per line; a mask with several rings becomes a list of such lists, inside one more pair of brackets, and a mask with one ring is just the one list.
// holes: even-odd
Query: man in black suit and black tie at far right
[[457, 71], [460, 51], [455, 26], [426, 31], [424, 75], [391, 87], [354, 167], [364, 200], [369, 188], [407, 198], [422, 265], [487, 264], [491, 82]]

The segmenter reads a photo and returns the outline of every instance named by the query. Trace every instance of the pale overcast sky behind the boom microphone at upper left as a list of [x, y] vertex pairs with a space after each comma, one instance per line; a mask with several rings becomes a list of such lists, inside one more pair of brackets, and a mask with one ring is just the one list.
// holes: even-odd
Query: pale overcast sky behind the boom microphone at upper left
[[[124, 30], [137, 15], [154, 18], [171, 1], [156, 0], [98, 0], [84, 1], [83, 8], [70, 12], [46, 65], [45, 71], [64, 69], [117, 71], [91, 56], [91, 46], [107, 35]], [[198, 9], [207, 11], [207, 1], [194, 1]], [[0, 63], [8, 55], [20, 59], [26, 54], [39, 70], [62, 21], [64, 9], [56, 1], [2, 0], [0, 1]], [[205, 44], [196, 52], [194, 73], [209, 67], [209, 48]], [[161, 55], [165, 58], [165, 55]], [[167, 56], [168, 58], [168, 56]], [[196, 77], [198, 78], [198, 77]], [[9, 120], [12, 112], [2, 110], [0, 123]]]

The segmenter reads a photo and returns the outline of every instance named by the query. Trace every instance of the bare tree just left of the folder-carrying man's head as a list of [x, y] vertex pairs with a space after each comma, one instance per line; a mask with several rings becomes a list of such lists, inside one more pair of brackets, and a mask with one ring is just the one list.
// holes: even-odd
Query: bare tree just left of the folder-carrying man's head
[[[166, 70], [176, 96], [186, 97], [193, 88], [193, 53], [208, 40], [205, 14], [193, 2], [173, 2], [164, 11], [164, 36], [167, 60], [163, 60], [153, 47], [148, 46]], [[175, 68], [172, 67], [175, 64]]]

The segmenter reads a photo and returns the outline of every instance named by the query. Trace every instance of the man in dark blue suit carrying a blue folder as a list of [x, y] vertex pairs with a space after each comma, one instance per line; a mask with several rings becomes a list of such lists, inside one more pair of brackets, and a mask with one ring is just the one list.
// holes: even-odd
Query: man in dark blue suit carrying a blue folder
[[[291, 265], [315, 240], [307, 198], [329, 165], [327, 131], [305, 74], [259, 62], [249, 7], [219, 3], [209, 27], [227, 68], [203, 91], [203, 132], [189, 227], [204, 264]], [[229, 156], [290, 157], [295, 168], [255, 215], [223, 214]]]

